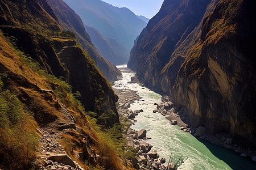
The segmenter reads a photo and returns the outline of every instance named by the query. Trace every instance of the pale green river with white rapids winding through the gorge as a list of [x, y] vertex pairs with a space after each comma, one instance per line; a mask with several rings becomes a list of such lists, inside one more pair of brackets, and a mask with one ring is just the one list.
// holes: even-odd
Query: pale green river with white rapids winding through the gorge
[[[117, 66], [119, 69], [126, 65]], [[256, 169], [256, 164], [250, 159], [243, 158], [232, 150], [213, 145], [207, 141], [200, 141], [193, 135], [179, 129], [179, 126], [170, 125], [162, 114], [153, 113], [156, 109], [154, 103], [161, 103], [161, 95], [156, 94], [148, 88], [142, 87], [137, 83], [130, 82], [134, 73], [122, 73], [123, 79], [115, 84], [121, 84], [122, 89], [138, 91], [141, 100], [131, 105], [131, 110], [143, 109], [142, 113], [136, 116], [134, 130], [147, 130], [147, 142], [150, 143], [161, 157], [168, 160], [170, 154], [174, 156], [173, 162], [176, 163], [180, 157], [183, 163], [177, 169]]]

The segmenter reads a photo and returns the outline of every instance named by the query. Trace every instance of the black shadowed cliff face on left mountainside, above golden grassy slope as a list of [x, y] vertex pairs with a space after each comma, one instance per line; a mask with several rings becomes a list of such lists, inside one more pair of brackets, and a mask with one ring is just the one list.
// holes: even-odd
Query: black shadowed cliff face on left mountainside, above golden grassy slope
[[[110, 88], [106, 79], [98, 72], [97, 68], [89, 61], [74, 40], [52, 39], [57, 56], [69, 71], [68, 82], [72, 84], [73, 91], [81, 93], [82, 103], [86, 111], [102, 114], [108, 109], [115, 113], [115, 121], [119, 122], [115, 103], [118, 97]], [[87, 55], [87, 56], [86, 56]]]

